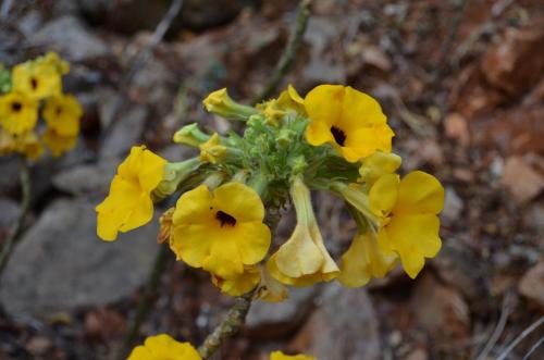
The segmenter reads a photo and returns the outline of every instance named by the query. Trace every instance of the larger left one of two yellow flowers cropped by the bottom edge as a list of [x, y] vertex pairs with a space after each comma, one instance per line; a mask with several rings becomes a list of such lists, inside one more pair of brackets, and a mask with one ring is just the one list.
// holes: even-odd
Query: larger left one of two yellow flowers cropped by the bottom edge
[[127, 360], [202, 360], [189, 343], [180, 343], [170, 335], [146, 338], [144, 345], [133, 349]]

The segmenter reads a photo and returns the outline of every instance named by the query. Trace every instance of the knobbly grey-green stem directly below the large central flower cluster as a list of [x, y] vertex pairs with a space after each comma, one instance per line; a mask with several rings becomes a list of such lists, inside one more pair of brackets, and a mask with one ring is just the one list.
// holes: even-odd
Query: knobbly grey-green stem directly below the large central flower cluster
[[234, 306], [228, 310], [225, 319], [208, 335], [203, 344], [198, 348], [198, 353], [200, 353], [203, 360], [209, 359], [226, 338], [236, 334], [244, 325], [246, 315], [251, 307], [254, 291], [251, 290], [234, 300]]

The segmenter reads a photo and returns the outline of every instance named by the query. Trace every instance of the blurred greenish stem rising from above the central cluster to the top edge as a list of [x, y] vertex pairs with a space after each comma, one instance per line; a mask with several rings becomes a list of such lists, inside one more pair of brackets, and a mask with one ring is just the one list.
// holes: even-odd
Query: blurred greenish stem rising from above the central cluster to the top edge
[[282, 57], [280, 58], [274, 72], [272, 73], [272, 76], [264, 86], [264, 89], [251, 101], [251, 103], [259, 103], [262, 100], [270, 98], [293, 64], [296, 52], [300, 47], [302, 36], [306, 33], [306, 27], [308, 25], [308, 17], [310, 16], [310, 3], [311, 0], [301, 0], [298, 4], [297, 21], [294, 30], [289, 35], [289, 39], [287, 41], [287, 45], [285, 46], [285, 50], [283, 51]]

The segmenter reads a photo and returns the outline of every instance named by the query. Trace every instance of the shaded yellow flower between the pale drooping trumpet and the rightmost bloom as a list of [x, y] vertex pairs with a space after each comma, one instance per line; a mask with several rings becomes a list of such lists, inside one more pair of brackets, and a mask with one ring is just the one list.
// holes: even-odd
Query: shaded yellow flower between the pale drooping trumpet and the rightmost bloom
[[384, 277], [395, 266], [396, 259], [395, 252], [378, 246], [371, 231], [359, 232], [342, 256], [337, 280], [347, 287], [364, 286], [372, 277]]

